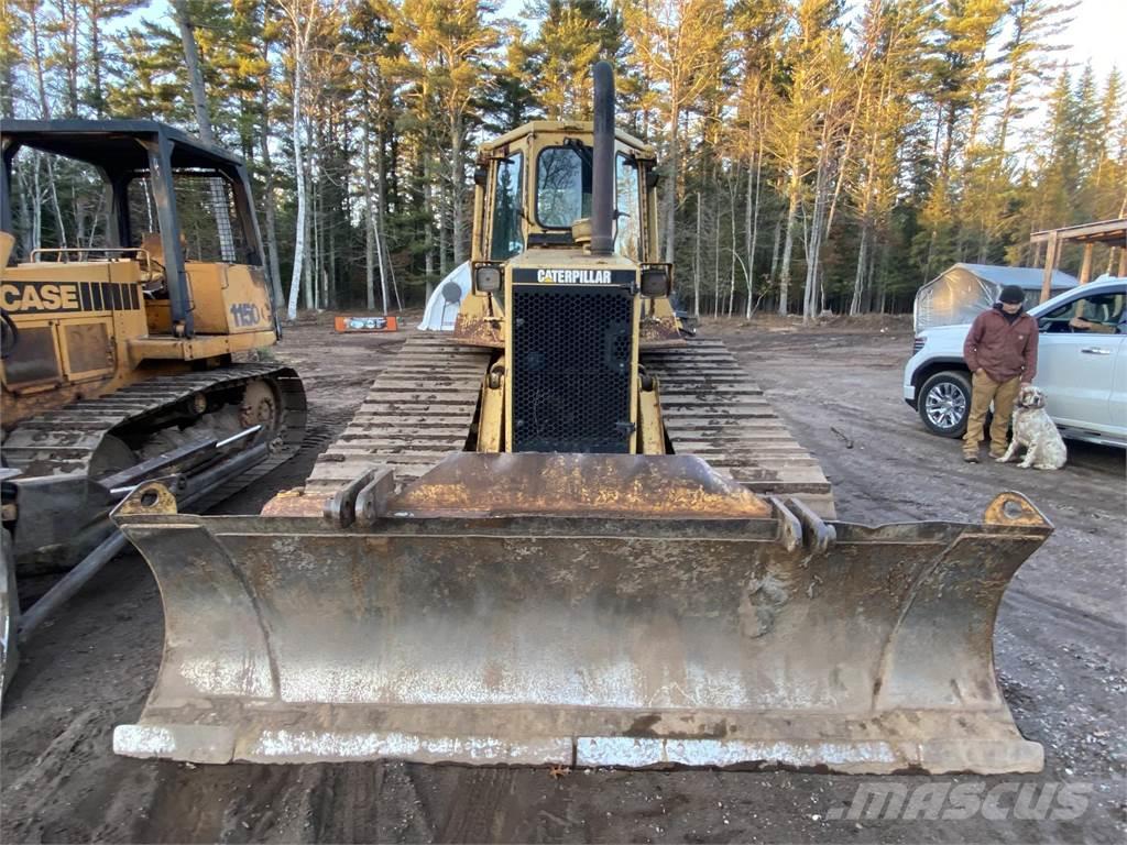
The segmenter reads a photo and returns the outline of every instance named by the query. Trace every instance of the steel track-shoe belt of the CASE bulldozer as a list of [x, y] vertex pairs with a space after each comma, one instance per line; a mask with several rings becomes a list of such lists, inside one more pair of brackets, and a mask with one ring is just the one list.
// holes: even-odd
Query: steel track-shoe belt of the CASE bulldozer
[[292, 368], [277, 364], [236, 364], [158, 376], [107, 397], [81, 400], [20, 422], [5, 439], [5, 462], [30, 477], [85, 473], [103, 438], [115, 428], [143, 421], [195, 393], [225, 390], [256, 379], [273, 379], [281, 391], [285, 413], [282, 448], [208, 495], [207, 500], [214, 504], [220, 500], [216, 498], [220, 491], [230, 496], [292, 457], [301, 446], [305, 398], [301, 380]]

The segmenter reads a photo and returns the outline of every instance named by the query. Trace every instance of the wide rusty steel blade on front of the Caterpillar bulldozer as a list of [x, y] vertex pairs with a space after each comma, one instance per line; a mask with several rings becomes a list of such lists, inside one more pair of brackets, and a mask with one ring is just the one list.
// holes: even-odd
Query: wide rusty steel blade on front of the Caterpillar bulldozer
[[1019, 493], [980, 524], [868, 527], [695, 457], [459, 454], [311, 505], [189, 516], [147, 486], [119, 506], [167, 630], [118, 754], [1042, 766], [994, 675], [1002, 594], [1051, 532]]

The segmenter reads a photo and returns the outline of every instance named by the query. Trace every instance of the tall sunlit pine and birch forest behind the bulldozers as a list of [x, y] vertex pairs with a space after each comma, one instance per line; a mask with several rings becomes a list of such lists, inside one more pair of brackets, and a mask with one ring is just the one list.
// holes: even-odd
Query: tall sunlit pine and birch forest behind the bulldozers
[[[619, 125], [664, 162], [663, 250], [692, 311], [897, 312], [952, 263], [1032, 266], [1031, 231], [1127, 215], [1127, 84], [1113, 63], [1065, 60], [1075, 14], [0, 0], [0, 113], [156, 118], [238, 152], [290, 315], [387, 312], [467, 259], [474, 145], [536, 117], [589, 119], [591, 66], [607, 59]], [[25, 254], [104, 233], [88, 169], [20, 153], [12, 194]], [[1093, 275], [1117, 261], [1099, 248]]]

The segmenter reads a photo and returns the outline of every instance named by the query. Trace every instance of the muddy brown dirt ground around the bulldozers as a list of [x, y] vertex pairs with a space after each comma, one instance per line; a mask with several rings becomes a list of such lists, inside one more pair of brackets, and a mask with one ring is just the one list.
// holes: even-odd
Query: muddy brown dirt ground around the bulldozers
[[[925, 433], [900, 399], [911, 350], [903, 321], [703, 331], [726, 336], [820, 460], [842, 519], [976, 519], [995, 492], [1012, 488], [1056, 524], [1006, 593], [995, 639], [1018, 724], [1045, 746], [1044, 774], [891, 781], [1091, 784], [1080, 818], [834, 821], [829, 811], [871, 779], [784, 771], [585, 771], [553, 779], [531, 768], [193, 766], [115, 757], [110, 732], [139, 715], [163, 630], [149, 571], [127, 554], [24, 651], [0, 720], [0, 840], [1122, 842], [1122, 451], [1072, 445], [1070, 465], [1056, 473], [964, 464], [958, 444]], [[336, 336], [326, 319], [292, 328], [276, 355], [305, 379], [307, 444], [258, 489], [219, 510], [257, 513], [276, 490], [300, 484], [401, 340], [402, 333]]]

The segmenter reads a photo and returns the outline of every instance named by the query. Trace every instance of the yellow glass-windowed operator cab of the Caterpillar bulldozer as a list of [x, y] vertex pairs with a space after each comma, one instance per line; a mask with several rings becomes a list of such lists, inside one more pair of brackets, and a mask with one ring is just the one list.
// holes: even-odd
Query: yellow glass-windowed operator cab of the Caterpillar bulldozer
[[685, 329], [668, 293], [671, 265], [658, 250], [657, 153], [615, 128], [611, 185], [611, 248], [593, 249], [595, 126], [533, 121], [478, 150], [471, 244], [473, 293], [465, 297], [455, 337], [504, 347], [505, 303], [512, 284], [624, 285], [641, 295], [644, 348], [680, 346]]

